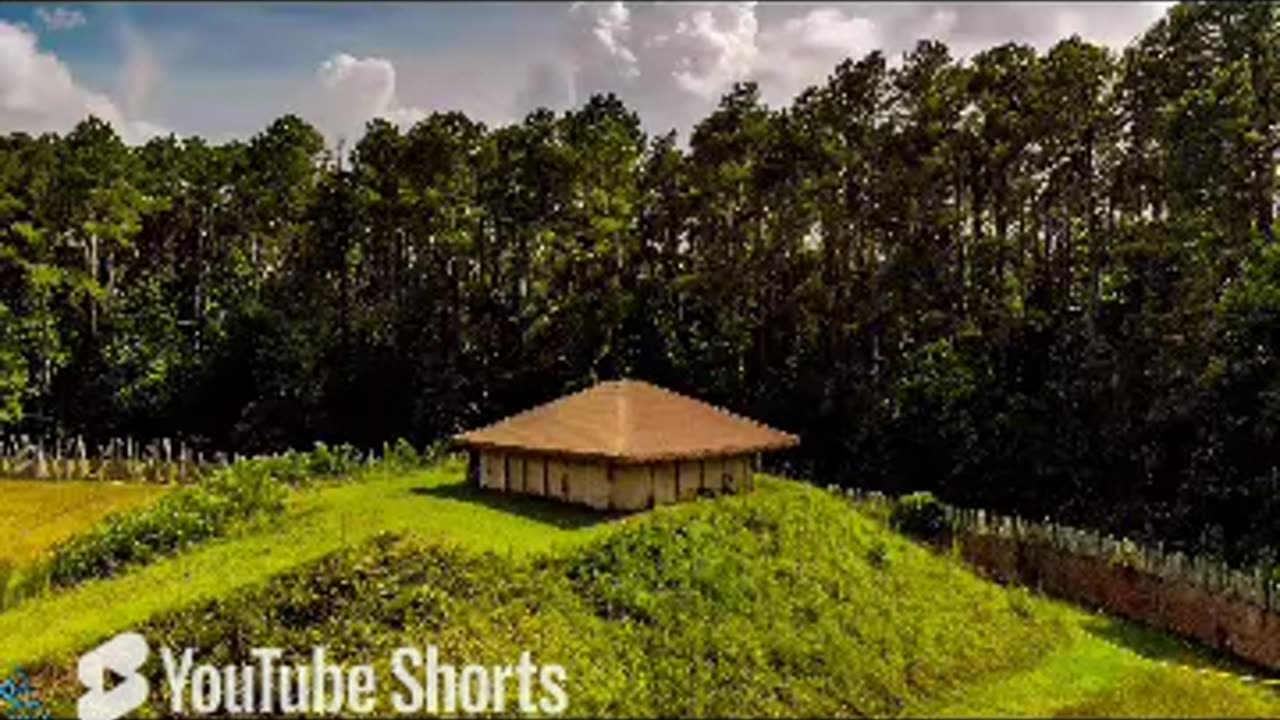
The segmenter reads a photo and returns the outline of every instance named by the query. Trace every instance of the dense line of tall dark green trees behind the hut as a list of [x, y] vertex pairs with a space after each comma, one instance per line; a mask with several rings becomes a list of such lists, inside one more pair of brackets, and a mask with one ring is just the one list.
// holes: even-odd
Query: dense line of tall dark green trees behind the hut
[[489, 128], [0, 137], [0, 423], [417, 442], [631, 375], [792, 471], [1233, 559], [1280, 534], [1280, 13], [1123, 53], [850, 59], [687, 147], [612, 96]]

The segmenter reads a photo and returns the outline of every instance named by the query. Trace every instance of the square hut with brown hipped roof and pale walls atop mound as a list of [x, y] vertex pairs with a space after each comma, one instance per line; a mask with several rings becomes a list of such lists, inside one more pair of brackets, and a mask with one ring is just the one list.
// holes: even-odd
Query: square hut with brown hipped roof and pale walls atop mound
[[760, 452], [800, 442], [639, 380], [599, 383], [454, 439], [481, 487], [598, 510], [750, 491]]

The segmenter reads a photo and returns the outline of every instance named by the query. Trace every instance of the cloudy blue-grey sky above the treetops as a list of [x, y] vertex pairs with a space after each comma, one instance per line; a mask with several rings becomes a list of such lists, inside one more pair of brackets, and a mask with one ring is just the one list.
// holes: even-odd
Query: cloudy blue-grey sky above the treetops
[[247, 138], [297, 113], [330, 143], [375, 117], [490, 126], [611, 91], [689, 129], [733, 82], [787, 104], [845, 58], [922, 38], [966, 56], [1070, 35], [1121, 49], [1171, 3], [0, 4], [0, 132], [88, 114], [129, 142]]

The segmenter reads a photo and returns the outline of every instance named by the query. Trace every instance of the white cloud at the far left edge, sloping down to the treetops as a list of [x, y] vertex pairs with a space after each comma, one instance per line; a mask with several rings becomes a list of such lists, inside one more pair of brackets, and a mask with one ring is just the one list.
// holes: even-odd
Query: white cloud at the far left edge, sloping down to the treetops
[[0, 20], [0, 132], [67, 132], [87, 115], [131, 142], [163, 131], [127, 119], [110, 97], [82, 87], [58, 56], [42, 53], [33, 32]]

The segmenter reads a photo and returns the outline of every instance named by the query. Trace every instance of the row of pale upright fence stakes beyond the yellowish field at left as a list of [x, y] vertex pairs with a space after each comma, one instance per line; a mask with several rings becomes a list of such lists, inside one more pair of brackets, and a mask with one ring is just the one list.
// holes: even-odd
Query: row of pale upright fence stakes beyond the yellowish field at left
[[111, 438], [95, 445], [83, 437], [0, 433], [0, 479], [192, 483], [238, 459], [223, 452], [206, 455], [172, 438]]

